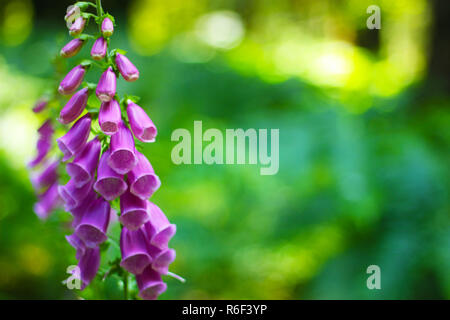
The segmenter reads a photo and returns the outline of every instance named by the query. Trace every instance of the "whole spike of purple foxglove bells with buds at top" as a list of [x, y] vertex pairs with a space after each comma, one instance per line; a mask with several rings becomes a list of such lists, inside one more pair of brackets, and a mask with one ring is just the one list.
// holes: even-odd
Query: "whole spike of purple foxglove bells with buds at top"
[[[108, 52], [109, 37], [114, 32], [113, 18], [103, 13], [98, 4], [95, 20], [99, 34], [90, 54], [93, 60], [103, 63], [104, 70], [95, 86], [86, 84], [83, 82], [85, 75], [94, 63], [84, 61], [70, 70], [58, 87], [61, 95], [71, 95], [60, 110], [58, 120], [64, 125], [73, 125], [56, 140], [70, 180], [58, 185], [56, 169], [60, 160], [46, 164], [45, 169], [33, 177], [36, 188], [47, 188], [39, 194], [35, 211], [45, 218], [62, 199], [64, 209], [72, 214], [74, 232], [66, 238], [76, 249], [83, 289], [98, 272], [99, 246], [108, 240], [110, 221], [117, 214], [111, 202], [118, 199], [118, 220], [122, 226], [120, 266], [136, 276], [142, 298], [156, 299], [166, 290], [161, 276], [170, 274], [169, 265], [175, 260], [175, 250], [169, 248], [168, 243], [176, 226], [149, 200], [161, 182], [147, 157], [136, 149], [135, 139], [154, 142], [157, 129], [134, 99], [120, 100], [116, 93], [120, 76], [126, 81], [135, 81], [139, 71], [124, 54], [117, 50]], [[66, 20], [75, 12], [69, 11]], [[69, 27], [75, 39], [61, 49], [62, 57], [77, 55], [92, 38], [83, 34], [92, 14], [89, 15], [82, 13]], [[86, 112], [94, 89], [100, 108], [92, 111], [90, 107]], [[43, 110], [43, 103], [40, 101], [33, 110]], [[93, 134], [94, 121], [98, 121], [101, 130], [97, 134]], [[38, 153], [30, 166], [41, 162], [50, 149], [53, 135], [50, 121], [44, 123], [39, 134]]]

